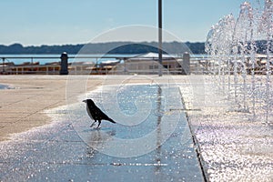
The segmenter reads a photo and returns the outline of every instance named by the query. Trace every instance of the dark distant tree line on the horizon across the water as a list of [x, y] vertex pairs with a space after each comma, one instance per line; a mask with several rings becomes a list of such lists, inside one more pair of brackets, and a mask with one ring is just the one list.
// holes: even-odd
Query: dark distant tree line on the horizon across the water
[[[163, 43], [163, 51], [168, 54], [205, 54], [205, 43]], [[21, 44], [0, 45], [0, 54], [145, 54], [157, 52], [157, 42], [109, 42], [82, 45], [40, 45]]]

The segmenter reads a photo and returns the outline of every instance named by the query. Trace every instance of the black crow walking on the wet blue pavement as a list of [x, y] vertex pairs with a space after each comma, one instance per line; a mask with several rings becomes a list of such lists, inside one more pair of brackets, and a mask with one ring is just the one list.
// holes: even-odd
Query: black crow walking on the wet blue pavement
[[[83, 100], [83, 102], [86, 103], [86, 110], [88, 115], [94, 119], [94, 123], [91, 125], [94, 126], [94, 124], [96, 123], [96, 120], [98, 121], [98, 126], [100, 126], [101, 124], [101, 120], [107, 120], [110, 121], [112, 123], [116, 123], [113, 119], [111, 119], [110, 117], [106, 116], [106, 114], [104, 112], [102, 112], [94, 103], [94, 101], [92, 99], [86, 99]], [[98, 128], [98, 126], [96, 128]]]

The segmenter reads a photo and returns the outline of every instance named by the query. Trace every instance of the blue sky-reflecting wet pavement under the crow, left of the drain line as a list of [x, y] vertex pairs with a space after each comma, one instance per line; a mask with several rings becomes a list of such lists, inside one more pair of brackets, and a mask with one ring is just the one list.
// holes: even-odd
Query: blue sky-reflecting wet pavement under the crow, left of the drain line
[[[116, 124], [91, 128], [86, 97]], [[0, 144], [1, 181], [204, 181], [177, 86], [104, 86], [78, 101]]]

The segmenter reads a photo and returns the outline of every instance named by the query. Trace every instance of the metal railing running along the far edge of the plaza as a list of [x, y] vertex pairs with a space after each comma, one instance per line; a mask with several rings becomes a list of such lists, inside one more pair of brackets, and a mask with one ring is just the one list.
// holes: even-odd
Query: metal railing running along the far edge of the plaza
[[[230, 57], [229, 57], [230, 58]], [[257, 56], [258, 65], [255, 67], [255, 74], [264, 75], [267, 71], [262, 59], [265, 57]], [[15, 65], [8, 60], [29, 60], [28, 64]], [[74, 75], [106, 75], [106, 74], [158, 74], [158, 57], [141, 57], [137, 61], [137, 56], [67, 56], [67, 71]], [[98, 60], [111, 59], [116, 61], [116, 65], [99, 63]], [[229, 73], [233, 74], [232, 65], [217, 65], [217, 58], [211, 56], [188, 56], [188, 72], [194, 75], [210, 75]], [[232, 57], [231, 57], [232, 59]], [[272, 59], [272, 57], [270, 57]], [[1, 63], [2, 60], [2, 63]], [[40, 65], [35, 62], [39, 60], [52, 60], [51, 63]], [[134, 61], [130, 61], [134, 60]], [[147, 61], [148, 60], [148, 61]], [[163, 57], [164, 74], [185, 75], [185, 57]], [[61, 56], [0, 56], [1, 75], [59, 75], [61, 71]], [[176, 62], [176, 63], [175, 63]], [[187, 61], [186, 61], [187, 62]], [[273, 62], [273, 61], [270, 61]], [[175, 63], [175, 64], [174, 64]], [[248, 74], [251, 66], [245, 66]], [[273, 66], [270, 66], [272, 69]], [[225, 72], [225, 73], [224, 73]], [[187, 73], [186, 73], [187, 74]]]

